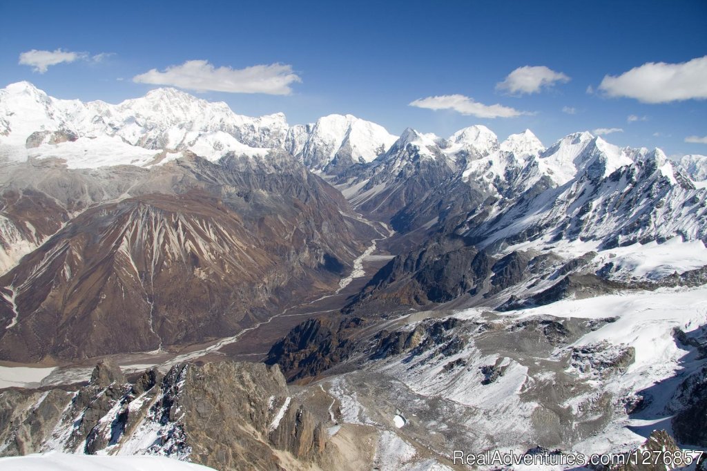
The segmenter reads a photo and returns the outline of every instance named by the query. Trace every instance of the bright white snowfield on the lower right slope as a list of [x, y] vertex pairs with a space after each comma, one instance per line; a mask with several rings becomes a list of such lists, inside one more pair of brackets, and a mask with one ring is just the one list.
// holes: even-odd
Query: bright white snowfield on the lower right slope
[[[658, 385], [683, 368], [681, 361], [687, 351], [681, 349], [673, 337], [674, 327], [684, 332], [707, 322], [707, 286], [696, 289], [660, 289], [616, 295], [597, 296], [582, 300], [566, 299], [549, 306], [509, 311], [505, 315], [530, 318], [551, 315], [564, 318], [600, 319], [615, 317], [599, 329], [578, 339], [573, 346], [609, 344], [633, 347], [636, 358], [620, 376], [597, 382], [592, 395], [602, 391], [614, 397], [626, 397]], [[665, 400], [666, 398], [656, 398]], [[579, 405], [591, 397], [578, 397]], [[575, 405], [575, 406], [576, 406]], [[608, 453], [616, 451], [617, 444], [637, 446], [645, 438], [626, 428], [633, 424], [628, 418], [616, 419], [602, 434], [580, 441], [574, 447], [581, 453]]]

